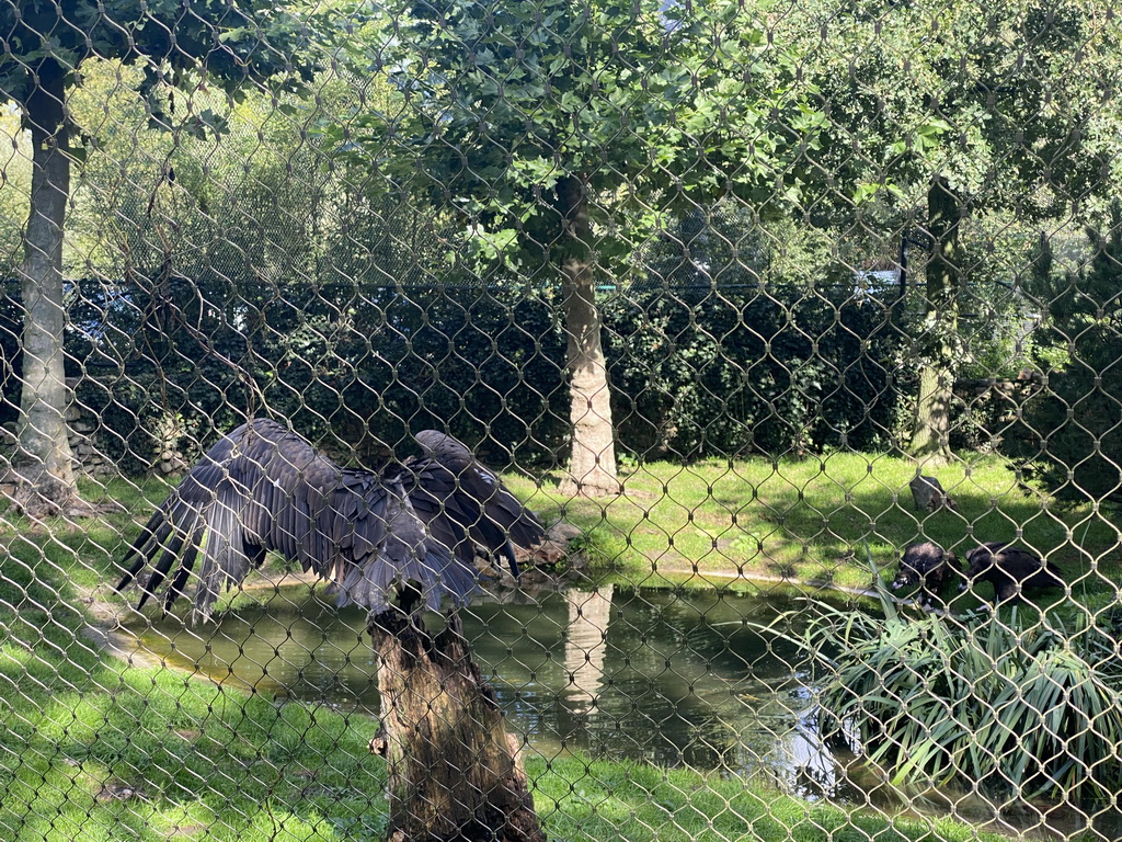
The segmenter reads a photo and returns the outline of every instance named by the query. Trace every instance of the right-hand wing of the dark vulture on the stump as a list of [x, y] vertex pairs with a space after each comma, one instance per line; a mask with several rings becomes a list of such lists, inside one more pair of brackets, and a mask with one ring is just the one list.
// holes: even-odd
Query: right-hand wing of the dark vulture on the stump
[[413, 460], [411, 467], [432, 504], [439, 504], [476, 546], [488, 552], [502, 551], [517, 576], [514, 544], [530, 548], [541, 543], [545, 539], [541, 522], [467, 446], [436, 430], [424, 430], [416, 439], [424, 457]]

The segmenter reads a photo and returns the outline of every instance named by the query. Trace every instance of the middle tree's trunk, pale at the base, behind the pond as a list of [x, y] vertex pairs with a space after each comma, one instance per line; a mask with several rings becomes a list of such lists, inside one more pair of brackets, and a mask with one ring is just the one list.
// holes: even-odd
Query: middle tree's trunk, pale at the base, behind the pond
[[608, 369], [600, 345], [600, 311], [592, 275], [591, 226], [585, 185], [570, 175], [558, 183], [565, 229], [561, 260], [565, 333], [569, 341], [569, 419], [572, 455], [560, 492], [606, 496], [620, 492], [616, 478], [615, 427]]

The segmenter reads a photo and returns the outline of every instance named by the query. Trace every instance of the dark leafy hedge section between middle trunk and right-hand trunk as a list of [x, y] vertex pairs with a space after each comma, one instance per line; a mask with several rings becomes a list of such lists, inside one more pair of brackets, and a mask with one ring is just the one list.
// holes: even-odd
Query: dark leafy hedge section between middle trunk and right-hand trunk
[[644, 455], [883, 443], [886, 309], [852, 286], [633, 293], [608, 310], [619, 437]]

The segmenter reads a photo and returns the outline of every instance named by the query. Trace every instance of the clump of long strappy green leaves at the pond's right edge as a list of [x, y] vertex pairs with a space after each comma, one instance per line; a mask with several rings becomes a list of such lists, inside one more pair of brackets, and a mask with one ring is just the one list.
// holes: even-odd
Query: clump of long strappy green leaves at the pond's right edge
[[830, 676], [824, 734], [898, 786], [1110, 798], [1122, 786], [1122, 694], [1097, 652], [1087, 657], [1102, 635], [1018, 626], [1015, 610], [1006, 623], [821, 607], [806, 643]]

